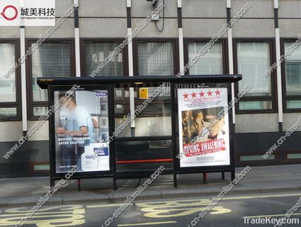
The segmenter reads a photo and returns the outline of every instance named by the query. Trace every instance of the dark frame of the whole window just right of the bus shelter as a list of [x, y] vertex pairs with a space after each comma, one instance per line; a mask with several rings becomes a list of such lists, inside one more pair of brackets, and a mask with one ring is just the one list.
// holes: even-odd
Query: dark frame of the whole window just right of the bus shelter
[[[238, 73], [238, 64], [237, 64], [237, 43], [268, 43], [270, 47], [270, 66], [276, 60], [276, 49], [275, 49], [275, 40], [274, 38], [234, 38], [233, 39], [233, 66], [234, 73]], [[266, 69], [268, 70], [268, 68]], [[271, 73], [271, 96], [243, 96], [241, 101], [271, 101], [272, 109], [255, 109], [255, 110], [241, 110], [239, 109], [239, 102], [235, 104], [235, 114], [270, 114], [278, 113], [278, 104], [277, 104], [277, 70], [273, 70]], [[263, 78], [264, 79], [264, 78]], [[234, 82], [234, 96], [239, 99], [237, 96], [239, 92], [239, 82]]]

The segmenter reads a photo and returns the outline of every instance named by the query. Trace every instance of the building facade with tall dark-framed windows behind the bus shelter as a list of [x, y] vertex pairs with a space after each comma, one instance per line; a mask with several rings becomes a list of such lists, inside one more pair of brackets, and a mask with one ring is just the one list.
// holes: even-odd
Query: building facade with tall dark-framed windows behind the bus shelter
[[[47, 122], [9, 159], [2, 157], [47, 112], [47, 92], [37, 77], [91, 74], [154, 11], [146, 0], [57, 0], [57, 19], [74, 4], [79, 7], [72, 16], [11, 77], [0, 78], [0, 177], [48, 174]], [[246, 4], [251, 9], [187, 74], [242, 74], [232, 84], [233, 95], [253, 87], [233, 108], [237, 166], [300, 163], [301, 128], [278, 143], [301, 115], [300, 44], [271, 76], [263, 74], [301, 34], [301, 1], [164, 0], [159, 21], [150, 22], [98, 75], [175, 75]], [[0, 27], [1, 74], [47, 29]], [[275, 143], [277, 150], [264, 159]]]

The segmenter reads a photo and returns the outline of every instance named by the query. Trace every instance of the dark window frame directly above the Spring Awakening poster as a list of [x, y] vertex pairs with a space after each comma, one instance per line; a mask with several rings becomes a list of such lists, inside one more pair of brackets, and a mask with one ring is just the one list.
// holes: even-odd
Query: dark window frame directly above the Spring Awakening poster
[[[184, 66], [189, 62], [189, 52], [188, 45], [189, 43], [208, 43], [211, 38], [184, 38]], [[229, 73], [229, 60], [228, 60], [228, 45], [227, 39], [221, 38], [217, 40], [216, 43], [222, 43], [222, 72], [224, 74]], [[189, 75], [189, 70], [185, 72], [186, 75]]]

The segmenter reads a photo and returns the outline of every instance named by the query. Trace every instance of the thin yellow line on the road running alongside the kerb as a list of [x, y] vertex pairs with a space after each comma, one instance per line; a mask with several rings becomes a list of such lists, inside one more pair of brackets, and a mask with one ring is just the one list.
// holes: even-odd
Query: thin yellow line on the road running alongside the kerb
[[[222, 200], [237, 200], [237, 199], [267, 199], [267, 198], [279, 198], [279, 197], [288, 197], [288, 196], [301, 196], [301, 192], [298, 193], [289, 193], [289, 194], [268, 194], [268, 195], [254, 195], [254, 196], [226, 196]], [[175, 200], [176, 202], [186, 202], [186, 201], [200, 201], [202, 199], [188, 199], [188, 200]], [[170, 201], [170, 200], [168, 200]], [[210, 201], [209, 201], [210, 202]], [[140, 204], [165, 204], [165, 201], [150, 201], [147, 203], [136, 203], [137, 206]], [[99, 204], [99, 205], [88, 205], [87, 208], [101, 208], [101, 207], [115, 207], [121, 206], [123, 204]]]

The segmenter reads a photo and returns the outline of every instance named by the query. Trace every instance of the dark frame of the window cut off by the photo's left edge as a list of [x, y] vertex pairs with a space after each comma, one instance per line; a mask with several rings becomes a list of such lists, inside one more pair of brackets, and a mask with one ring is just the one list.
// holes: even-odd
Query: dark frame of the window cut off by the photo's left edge
[[[20, 39], [18, 38], [0, 38], [0, 43], [13, 43], [15, 45], [15, 62], [21, 57], [20, 53]], [[25, 64], [25, 62], [23, 63]], [[14, 65], [13, 65], [14, 66]], [[21, 65], [16, 69], [16, 101], [15, 102], [0, 102], [1, 108], [16, 108], [17, 114], [14, 117], [0, 118], [0, 121], [21, 121]]]

